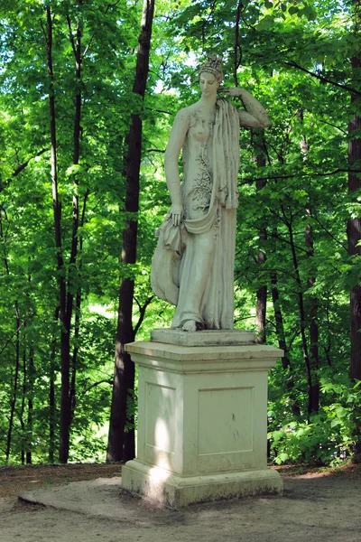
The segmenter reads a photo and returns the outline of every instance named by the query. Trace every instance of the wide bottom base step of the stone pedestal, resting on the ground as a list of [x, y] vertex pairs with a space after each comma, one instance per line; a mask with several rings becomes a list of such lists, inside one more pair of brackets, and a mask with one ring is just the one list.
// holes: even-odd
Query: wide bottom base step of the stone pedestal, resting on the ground
[[180, 476], [161, 467], [129, 461], [123, 467], [123, 488], [178, 509], [194, 502], [232, 499], [248, 495], [282, 495], [280, 474], [269, 468]]

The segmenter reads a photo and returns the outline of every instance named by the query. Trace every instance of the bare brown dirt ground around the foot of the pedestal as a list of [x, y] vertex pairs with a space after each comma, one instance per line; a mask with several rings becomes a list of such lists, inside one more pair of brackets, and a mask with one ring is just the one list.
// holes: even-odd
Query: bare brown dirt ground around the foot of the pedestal
[[[284, 476], [283, 498], [228, 500], [177, 511], [122, 495], [118, 466], [83, 467], [57, 467], [64, 471], [58, 471], [56, 483], [55, 467], [51, 474], [51, 467], [22, 469], [22, 475], [0, 469], [1, 542], [361, 541], [360, 466]], [[103, 478], [87, 480], [99, 475]], [[64, 483], [79, 478], [86, 480]], [[14, 492], [29, 487], [40, 488], [32, 493], [45, 495], [56, 508], [18, 504]]]

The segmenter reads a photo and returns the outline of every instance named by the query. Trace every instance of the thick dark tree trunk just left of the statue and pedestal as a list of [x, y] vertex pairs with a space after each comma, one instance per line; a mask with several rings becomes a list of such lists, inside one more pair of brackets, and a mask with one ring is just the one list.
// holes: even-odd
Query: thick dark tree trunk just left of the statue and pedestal
[[[145, 95], [149, 70], [149, 54], [151, 48], [154, 0], [144, 0], [141, 33], [135, 68], [133, 91], [142, 98]], [[123, 248], [121, 261], [134, 264], [136, 260], [137, 219], [139, 210], [139, 173], [142, 156], [142, 119], [132, 115], [132, 124], [126, 137], [126, 195], [125, 212], [134, 213], [134, 218], [125, 221], [123, 230]], [[134, 458], [134, 416], [127, 417], [126, 404], [128, 390], [134, 390], [134, 363], [125, 352], [125, 344], [134, 341], [132, 325], [134, 297], [134, 280], [121, 280], [119, 289], [119, 309], [116, 329], [116, 364], [113, 384], [112, 405], [110, 412], [109, 437], [106, 461], [128, 461]], [[125, 434], [126, 424], [133, 427]]]

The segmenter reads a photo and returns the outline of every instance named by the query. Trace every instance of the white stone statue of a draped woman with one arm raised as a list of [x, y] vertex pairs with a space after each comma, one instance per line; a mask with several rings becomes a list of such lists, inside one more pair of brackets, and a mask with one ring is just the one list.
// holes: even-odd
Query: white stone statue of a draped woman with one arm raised
[[[176, 305], [171, 327], [186, 332], [233, 329], [239, 126], [270, 125], [247, 90], [220, 88], [221, 80], [222, 59], [210, 55], [199, 69], [201, 98], [180, 109], [165, 152], [171, 210], [157, 230], [151, 282]], [[246, 111], [218, 92], [242, 98]]]

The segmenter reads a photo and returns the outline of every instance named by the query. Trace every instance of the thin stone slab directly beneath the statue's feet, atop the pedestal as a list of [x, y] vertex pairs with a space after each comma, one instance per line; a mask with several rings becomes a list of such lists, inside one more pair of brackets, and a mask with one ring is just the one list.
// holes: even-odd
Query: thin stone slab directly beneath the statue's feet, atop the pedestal
[[239, 346], [255, 344], [255, 333], [243, 330], [206, 330], [183, 332], [182, 330], [153, 330], [151, 341], [180, 346]]

